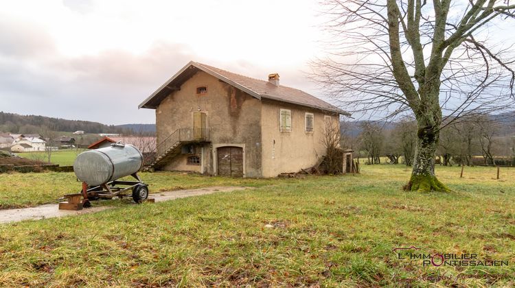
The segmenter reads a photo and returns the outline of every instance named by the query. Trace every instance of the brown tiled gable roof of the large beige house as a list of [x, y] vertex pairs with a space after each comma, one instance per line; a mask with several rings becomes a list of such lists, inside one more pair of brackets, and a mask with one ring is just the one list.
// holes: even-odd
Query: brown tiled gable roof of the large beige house
[[156, 108], [159, 106], [159, 103], [164, 99], [165, 95], [167, 95], [168, 91], [166, 89], [170, 88], [170, 85], [174, 86], [173, 84], [178, 84], [180, 86], [185, 79], [189, 78], [187, 77], [188, 75], [183, 74], [189, 74], [191, 77], [192, 72], [190, 68], [192, 67], [200, 69], [201, 71], [213, 75], [224, 82], [236, 86], [236, 88], [240, 88], [242, 91], [245, 91], [258, 99], [264, 98], [284, 101], [350, 116], [348, 112], [345, 112], [340, 108], [328, 104], [327, 102], [299, 89], [282, 85], [275, 86], [275, 84], [271, 84], [268, 81], [254, 79], [193, 61], [183, 67], [181, 71], [165, 82], [163, 86], [159, 87], [155, 93], [152, 93], [150, 97], [139, 105], [139, 108]]

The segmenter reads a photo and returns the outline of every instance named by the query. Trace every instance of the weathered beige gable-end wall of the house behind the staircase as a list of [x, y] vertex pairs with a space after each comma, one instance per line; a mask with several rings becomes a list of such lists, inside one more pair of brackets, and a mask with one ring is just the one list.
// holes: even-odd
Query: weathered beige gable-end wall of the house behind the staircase
[[[198, 86], [207, 86], [206, 95], [196, 95]], [[204, 147], [204, 171], [214, 174], [218, 143], [244, 143], [246, 177], [260, 177], [261, 172], [261, 101], [229, 84], [220, 82], [199, 71], [161, 101], [156, 109], [157, 143], [161, 143], [179, 128], [192, 127], [192, 113], [207, 115], [207, 128], [211, 130], [211, 145]], [[185, 158], [172, 160], [164, 169], [184, 168]], [[196, 170], [192, 170], [196, 171]]]

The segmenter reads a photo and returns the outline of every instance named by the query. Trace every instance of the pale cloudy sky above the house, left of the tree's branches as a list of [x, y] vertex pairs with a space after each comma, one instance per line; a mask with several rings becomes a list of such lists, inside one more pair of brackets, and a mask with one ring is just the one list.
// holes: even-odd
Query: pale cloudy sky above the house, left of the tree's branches
[[106, 124], [190, 60], [319, 95], [317, 1], [0, 1], [0, 110]]

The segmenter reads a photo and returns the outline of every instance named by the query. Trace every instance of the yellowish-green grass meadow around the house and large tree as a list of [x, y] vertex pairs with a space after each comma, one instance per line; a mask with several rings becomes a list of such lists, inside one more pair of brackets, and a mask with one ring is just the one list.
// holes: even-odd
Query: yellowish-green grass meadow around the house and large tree
[[[459, 178], [459, 167], [437, 167], [453, 193], [402, 191], [402, 165], [362, 172], [273, 180], [144, 174], [157, 190], [210, 181], [258, 188], [0, 225], [0, 286], [515, 285], [515, 169], [495, 180], [494, 168], [466, 167]], [[32, 176], [27, 186], [55, 189], [67, 177]], [[411, 245], [508, 265], [424, 266], [392, 251]]]

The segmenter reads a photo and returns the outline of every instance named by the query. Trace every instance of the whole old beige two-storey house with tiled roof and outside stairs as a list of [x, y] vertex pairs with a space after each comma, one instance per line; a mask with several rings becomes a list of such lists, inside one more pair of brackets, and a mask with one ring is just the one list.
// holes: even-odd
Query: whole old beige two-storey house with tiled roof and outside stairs
[[325, 125], [349, 114], [317, 97], [198, 62], [188, 63], [139, 108], [155, 109], [155, 169], [275, 177], [315, 165]]

